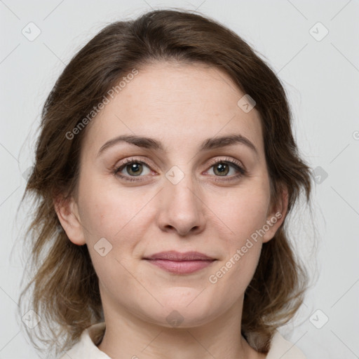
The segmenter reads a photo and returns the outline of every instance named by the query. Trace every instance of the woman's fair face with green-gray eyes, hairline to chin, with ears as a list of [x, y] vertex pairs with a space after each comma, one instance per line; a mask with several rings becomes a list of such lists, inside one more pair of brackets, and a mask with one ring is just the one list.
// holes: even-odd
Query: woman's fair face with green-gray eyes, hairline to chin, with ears
[[[219, 69], [158, 63], [90, 123], [78, 197], [59, 218], [88, 245], [104, 306], [168, 327], [177, 311], [191, 327], [243, 302], [284, 217], [270, 210], [261, 122], [238, 106], [243, 95]], [[152, 141], [109, 142], [123, 135]], [[163, 269], [144, 259], [164, 251], [215, 260]]]

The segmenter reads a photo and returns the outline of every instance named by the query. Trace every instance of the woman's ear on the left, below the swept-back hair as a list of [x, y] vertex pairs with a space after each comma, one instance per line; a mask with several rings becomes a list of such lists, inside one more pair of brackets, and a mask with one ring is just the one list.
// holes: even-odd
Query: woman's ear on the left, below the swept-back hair
[[58, 196], [54, 200], [54, 207], [57, 217], [69, 240], [76, 245], [86, 244], [79, 209], [74, 198], [64, 199]]

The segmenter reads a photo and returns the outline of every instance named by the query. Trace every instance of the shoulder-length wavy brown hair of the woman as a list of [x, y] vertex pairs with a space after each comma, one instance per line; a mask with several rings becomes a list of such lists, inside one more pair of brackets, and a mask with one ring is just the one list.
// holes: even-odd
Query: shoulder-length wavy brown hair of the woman
[[[294, 142], [285, 90], [248, 43], [210, 18], [177, 9], [151, 11], [104, 27], [72, 58], [46, 99], [35, 163], [22, 197], [23, 201], [32, 195], [35, 202], [26, 232], [34, 276], [20, 300], [31, 292], [32, 309], [41, 317], [38, 339], [55, 346], [57, 353], [72, 346], [86, 327], [103, 320], [88, 248], [69, 241], [54, 209], [58, 195], [76, 194], [79, 154], [88, 126], [72, 140], [65, 134], [79, 126], [121, 76], [159, 61], [205, 63], [229, 74], [257, 102], [272, 203], [278, 202], [283, 187], [288, 191], [288, 213], [302, 191], [309, 203], [311, 173]], [[302, 304], [307, 284], [306, 270], [294, 255], [283, 223], [264, 243], [245, 291], [241, 332], [253, 348], [269, 350], [276, 328]]]

